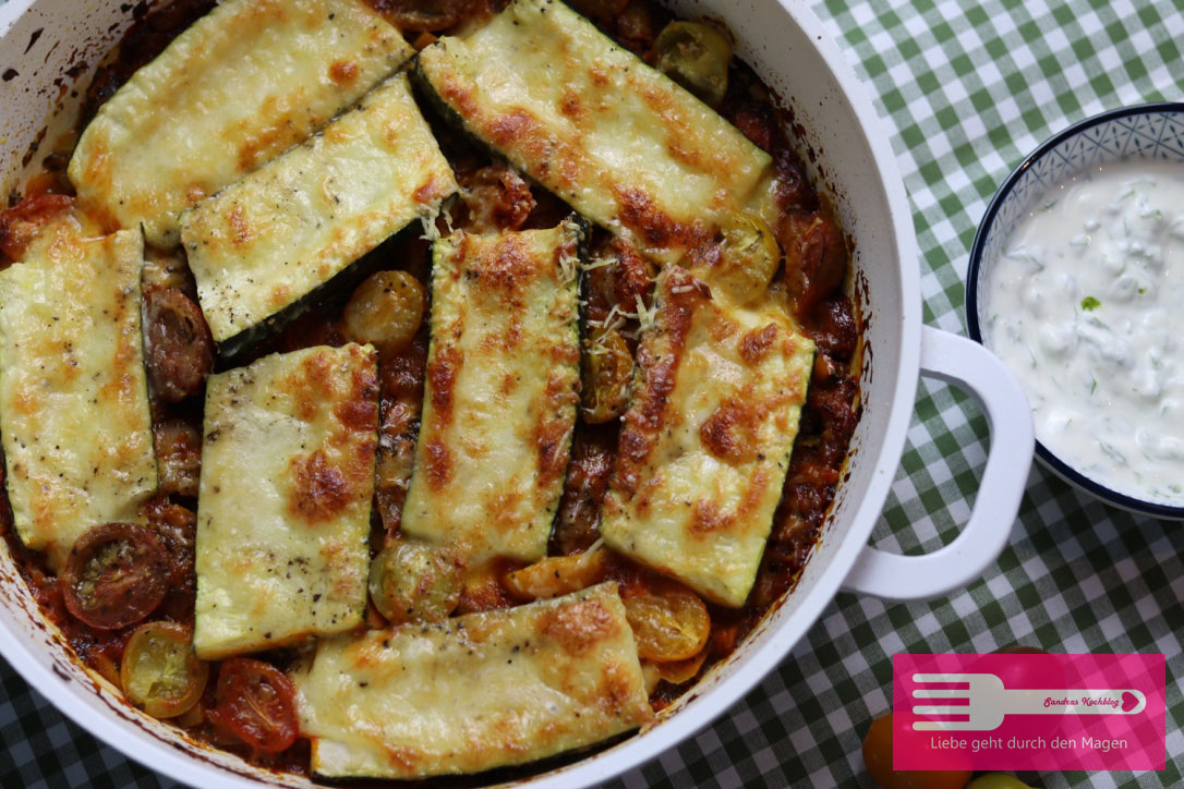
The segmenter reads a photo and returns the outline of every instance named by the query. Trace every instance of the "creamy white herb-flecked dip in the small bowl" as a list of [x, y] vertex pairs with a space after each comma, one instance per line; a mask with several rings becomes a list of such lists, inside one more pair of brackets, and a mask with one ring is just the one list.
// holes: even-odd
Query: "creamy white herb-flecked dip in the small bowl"
[[1184, 506], [1184, 164], [1107, 164], [1037, 205], [984, 283], [987, 344], [1049, 451]]

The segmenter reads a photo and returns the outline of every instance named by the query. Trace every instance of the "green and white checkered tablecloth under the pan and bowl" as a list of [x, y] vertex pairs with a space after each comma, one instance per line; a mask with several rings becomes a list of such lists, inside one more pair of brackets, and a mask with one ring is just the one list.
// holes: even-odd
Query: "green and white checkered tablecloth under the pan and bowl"
[[[996, 186], [1037, 143], [1108, 108], [1184, 93], [1184, 2], [815, 0], [875, 96], [912, 200], [925, 321], [964, 331], [963, 277]], [[2, 64], [12, 65], [12, 64]], [[965, 522], [986, 425], [922, 381], [909, 446], [874, 541], [932, 550]], [[1053, 651], [1167, 657], [1167, 770], [1044, 774], [1048, 787], [1182, 785], [1184, 530], [1119, 512], [1034, 470], [1011, 544], [970, 589], [928, 603], [842, 594], [780, 668], [716, 724], [611, 787], [857, 787], [860, 743], [896, 652]], [[0, 661], [0, 785], [155, 787]]]

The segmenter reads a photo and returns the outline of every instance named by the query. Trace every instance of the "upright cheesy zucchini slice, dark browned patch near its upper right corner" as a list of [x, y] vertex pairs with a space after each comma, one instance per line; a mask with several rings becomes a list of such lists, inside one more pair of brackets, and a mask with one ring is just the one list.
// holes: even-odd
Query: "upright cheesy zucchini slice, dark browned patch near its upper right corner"
[[361, 623], [378, 432], [369, 345], [266, 356], [206, 383], [200, 658]]

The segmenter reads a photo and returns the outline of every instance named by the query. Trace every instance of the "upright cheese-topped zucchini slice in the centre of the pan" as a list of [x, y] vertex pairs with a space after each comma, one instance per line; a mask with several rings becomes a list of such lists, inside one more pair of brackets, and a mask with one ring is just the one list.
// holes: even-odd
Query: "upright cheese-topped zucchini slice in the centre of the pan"
[[474, 562], [541, 558], [579, 402], [581, 231], [457, 233], [432, 253], [431, 348], [403, 530]]

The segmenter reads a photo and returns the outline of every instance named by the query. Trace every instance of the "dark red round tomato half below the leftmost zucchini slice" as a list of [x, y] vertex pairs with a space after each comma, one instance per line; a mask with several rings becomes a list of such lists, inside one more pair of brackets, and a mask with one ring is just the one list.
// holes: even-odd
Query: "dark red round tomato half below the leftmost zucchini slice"
[[150, 529], [105, 523], [75, 543], [62, 573], [63, 597], [86, 625], [114, 630], [150, 614], [172, 575], [168, 554]]

